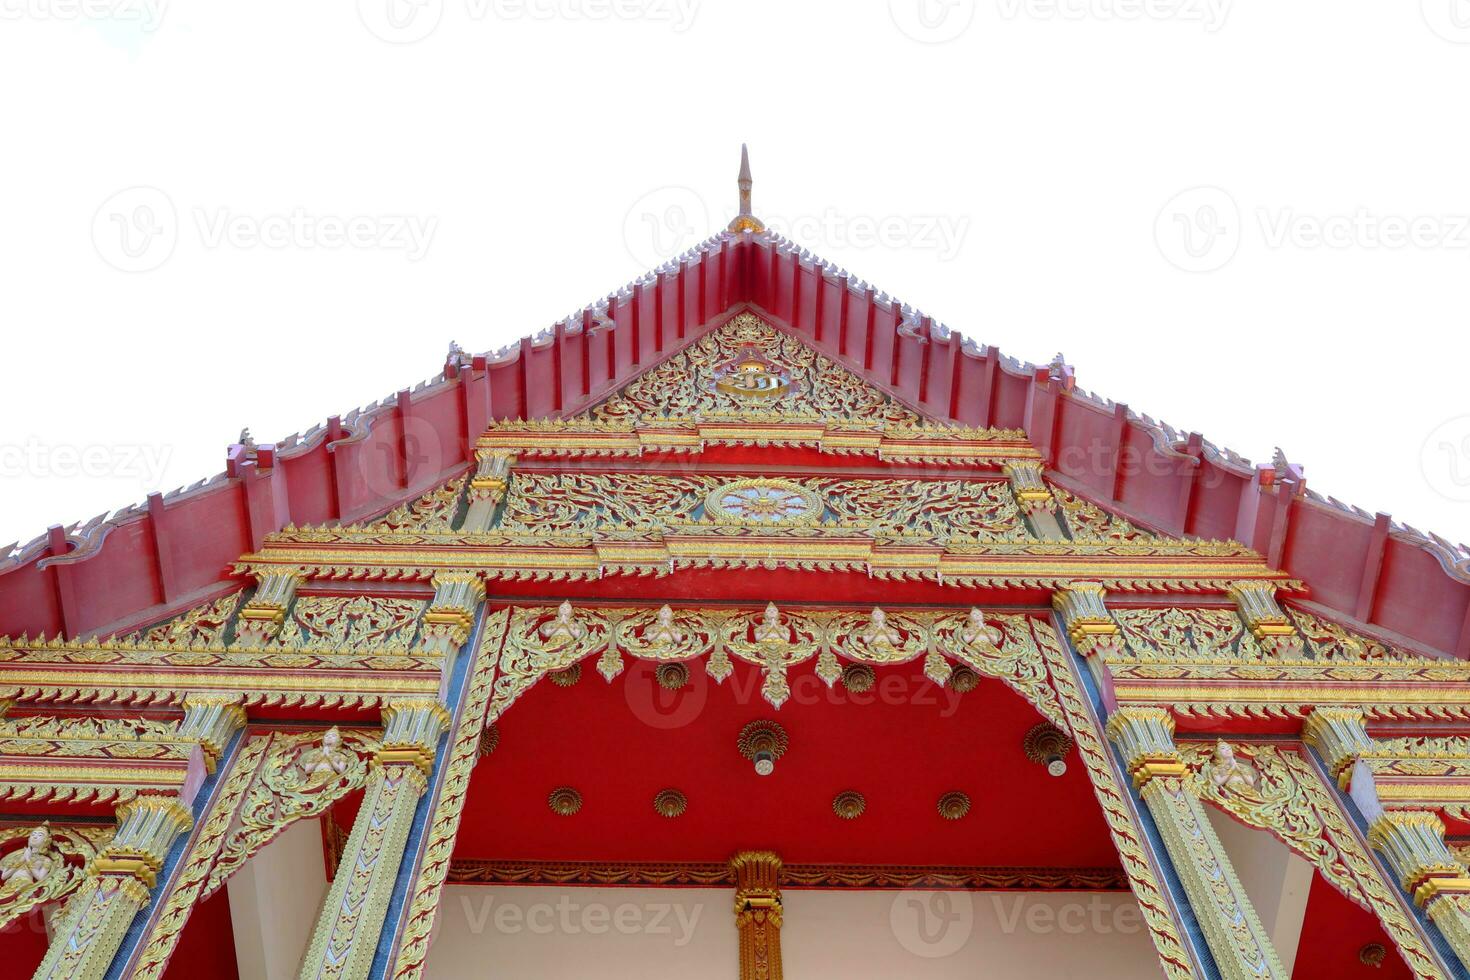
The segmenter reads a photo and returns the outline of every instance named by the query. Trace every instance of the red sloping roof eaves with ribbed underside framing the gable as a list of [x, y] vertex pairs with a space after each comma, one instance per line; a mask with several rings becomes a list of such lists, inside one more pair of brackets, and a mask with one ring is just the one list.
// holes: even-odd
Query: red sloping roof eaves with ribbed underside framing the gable
[[748, 306], [942, 422], [1023, 428], [1057, 482], [1166, 533], [1233, 538], [1338, 619], [1470, 658], [1470, 551], [1005, 357], [770, 232], [722, 232], [554, 328], [0, 558], [0, 635], [110, 633], [218, 592], [287, 523], [360, 522], [463, 472], [492, 419], [570, 414]]

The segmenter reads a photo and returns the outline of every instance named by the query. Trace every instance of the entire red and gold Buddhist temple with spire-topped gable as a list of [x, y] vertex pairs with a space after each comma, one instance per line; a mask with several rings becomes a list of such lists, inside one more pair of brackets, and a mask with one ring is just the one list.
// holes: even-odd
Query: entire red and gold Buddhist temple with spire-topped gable
[[738, 191], [0, 552], [0, 976], [1470, 977], [1470, 554]]

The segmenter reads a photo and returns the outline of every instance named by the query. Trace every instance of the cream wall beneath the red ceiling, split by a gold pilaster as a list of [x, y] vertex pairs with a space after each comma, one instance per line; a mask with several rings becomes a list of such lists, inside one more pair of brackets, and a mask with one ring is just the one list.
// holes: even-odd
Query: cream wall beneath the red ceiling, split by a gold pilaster
[[[731, 889], [451, 886], [428, 976], [735, 980]], [[1160, 976], [1126, 893], [788, 890], [789, 977]]]

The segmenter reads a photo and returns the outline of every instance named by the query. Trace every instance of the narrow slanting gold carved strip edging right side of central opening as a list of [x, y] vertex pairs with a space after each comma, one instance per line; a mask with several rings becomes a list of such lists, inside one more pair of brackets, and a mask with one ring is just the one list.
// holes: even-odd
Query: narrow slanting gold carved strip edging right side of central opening
[[1086, 765], [1088, 777], [1092, 780], [1092, 792], [1102, 807], [1102, 817], [1113, 836], [1113, 846], [1123, 862], [1123, 871], [1127, 873], [1144, 923], [1154, 940], [1154, 949], [1158, 951], [1158, 962], [1164, 976], [1170, 980], [1197, 977], [1194, 959], [1180, 939], [1183, 929], [1175, 915], [1173, 905], [1160, 887], [1157, 867], [1144, 846], [1138, 817], [1127, 793], [1119, 783], [1108, 748], [1102, 742], [1102, 727], [1082, 693], [1076, 667], [1053, 630], [1038, 623], [1033, 633], [1051, 671], [1051, 683], [1066, 717], [1064, 729], [1072, 733], [1078, 755]]

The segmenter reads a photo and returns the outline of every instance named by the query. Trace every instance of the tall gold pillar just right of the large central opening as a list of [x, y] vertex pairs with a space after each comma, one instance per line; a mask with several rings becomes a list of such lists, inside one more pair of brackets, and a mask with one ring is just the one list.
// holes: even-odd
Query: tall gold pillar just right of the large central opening
[[1175, 746], [1173, 716], [1163, 708], [1119, 708], [1107, 721], [1107, 733], [1154, 817], [1220, 976], [1286, 980], [1291, 974], [1189, 783]]

